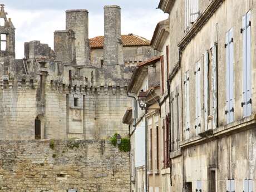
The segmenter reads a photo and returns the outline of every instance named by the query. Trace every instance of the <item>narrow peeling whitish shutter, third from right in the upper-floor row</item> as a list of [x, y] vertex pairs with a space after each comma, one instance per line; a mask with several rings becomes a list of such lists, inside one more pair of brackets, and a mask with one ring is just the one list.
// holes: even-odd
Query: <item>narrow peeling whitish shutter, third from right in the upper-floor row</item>
[[212, 67], [212, 72], [213, 72], [213, 86], [212, 86], [212, 93], [213, 93], [213, 129], [216, 128], [217, 122], [218, 122], [218, 116], [217, 116], [217, 102], [218, 102], [218, 95], [217, 95], [217, 45], [214, 44], [213, 46], [213, 67]]

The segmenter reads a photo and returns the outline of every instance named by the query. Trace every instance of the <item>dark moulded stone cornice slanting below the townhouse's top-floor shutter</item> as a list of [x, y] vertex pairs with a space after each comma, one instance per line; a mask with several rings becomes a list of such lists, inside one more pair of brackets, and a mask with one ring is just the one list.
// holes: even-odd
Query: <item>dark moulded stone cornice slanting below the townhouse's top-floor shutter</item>
[[180, 50], [188, 45], [188, 43], [195, 37], [195, 35], [201, 30], [201, 28], [208, 22], [208, 20], [213, 16], [215, 11], [219, 8], [220, 4], [225, 0], [213, 0], [201, 16], [196, 20], [193, 26], [189, 29], [183, 39], [178, 43]]

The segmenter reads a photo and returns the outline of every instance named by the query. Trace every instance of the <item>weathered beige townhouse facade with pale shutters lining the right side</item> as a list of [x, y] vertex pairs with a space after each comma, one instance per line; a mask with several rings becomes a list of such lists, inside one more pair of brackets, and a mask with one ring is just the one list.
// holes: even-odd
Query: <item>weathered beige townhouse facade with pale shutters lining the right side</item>
[[145, 111], [144, 191], [256, 189], [255, 3], [160, 0], [169, 18], [151, 40], [159, 120]]

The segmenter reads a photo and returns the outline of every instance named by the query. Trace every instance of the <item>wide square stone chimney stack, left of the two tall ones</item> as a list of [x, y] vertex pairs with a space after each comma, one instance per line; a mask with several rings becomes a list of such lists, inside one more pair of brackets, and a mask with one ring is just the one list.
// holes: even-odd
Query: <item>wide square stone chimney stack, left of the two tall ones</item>
[[90, 65], [90, 45], [88, 38], [88, 11], [72, 9], [66, 11], [66, 30], [75, 32], [77, 65]]

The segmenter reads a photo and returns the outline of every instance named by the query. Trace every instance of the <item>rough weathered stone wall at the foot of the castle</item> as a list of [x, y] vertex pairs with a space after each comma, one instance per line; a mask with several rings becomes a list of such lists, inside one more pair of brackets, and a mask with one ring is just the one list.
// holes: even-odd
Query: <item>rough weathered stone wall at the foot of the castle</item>
[[129, 153], [109, 141], [0, 141], [0, 191], [129, 191]]

